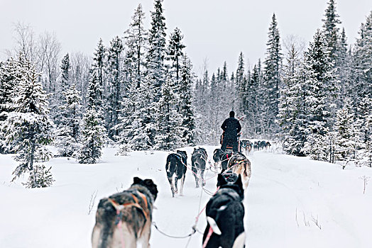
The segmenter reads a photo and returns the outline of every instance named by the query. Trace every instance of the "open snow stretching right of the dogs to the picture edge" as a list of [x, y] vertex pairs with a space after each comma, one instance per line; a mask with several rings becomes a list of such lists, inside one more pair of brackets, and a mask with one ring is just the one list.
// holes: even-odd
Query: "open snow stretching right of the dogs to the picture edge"
[[371, 194], [361, 194], [359, 169], [342, 171], [334, 164], [265, 152], [251, 159], [249, 247], [369, 247], [363, 228], [372, 226], [366, 208]]

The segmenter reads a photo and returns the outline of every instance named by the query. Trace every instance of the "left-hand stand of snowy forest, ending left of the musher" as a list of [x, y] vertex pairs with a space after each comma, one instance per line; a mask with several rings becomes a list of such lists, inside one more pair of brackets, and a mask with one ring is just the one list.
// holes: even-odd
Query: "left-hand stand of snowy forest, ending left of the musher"
[[139, 4], [124, 37], [99, 40], [92, 60], [75, 53], [60, 61], [54, 35], [15, 26], [16, 47], [0, 62], [0, 151], [17, 154], [14, 179], [28, 172], [28, 187], [53, 182], [38, 164], [51, 156], [45, 145], [95, 163], [103, 145], [125, 154], [195, 144], [192, 62], [180, 29], [167, 37], [162, 3], [154, 1], [148, 30]]

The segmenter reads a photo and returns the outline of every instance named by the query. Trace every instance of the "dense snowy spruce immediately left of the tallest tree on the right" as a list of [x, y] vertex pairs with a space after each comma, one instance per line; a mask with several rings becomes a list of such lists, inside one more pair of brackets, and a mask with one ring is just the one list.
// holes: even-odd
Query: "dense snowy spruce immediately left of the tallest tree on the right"
[[327, 144], [325, 135], [332, 127], [334, 116], [334, 98], [337, 91], [336, 70], [329, 57], [327, 42], [324, 34], [317, 30], [314, 42], [310, 43], [305, 52], [305, 69], [307, 74], [307, 96], [305, 105], [308, 106], [307, 137], [305, 152], [314, 159], [327, 160]]

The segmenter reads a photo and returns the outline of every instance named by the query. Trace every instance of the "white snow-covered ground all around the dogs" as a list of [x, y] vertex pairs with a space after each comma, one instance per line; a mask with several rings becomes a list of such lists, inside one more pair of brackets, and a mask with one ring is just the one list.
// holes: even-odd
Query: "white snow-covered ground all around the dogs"
[[[192, 147], [185, 148], [191, 157]], [[214, 147], [207, 147], [212, 159]], [[55, 158], [55, 179], [49, 188], [26, 189], [11, 181], [16, 167], [11, 155], [0, 155], [0, 247], [91, 247], [94, 214], [100, 198], [128, 188], [133, 176], [151, 178], [158, 185], [153, 220], [169, 235], [192, 232], [195, 217], [210, 198], [187, 171], [185, 196], [172, 198], [165, 176], [168, 152], [131, 152], [115, 156], [104, 149], [99, 164], [77, 164]], [[363, 194], [362, 176], [367, 167], [346, 167], [271, 152], [254, 152], [252, 178], [244, 205], [247, 247], [372, 247], [372, 185]], [[209, 171], [206, 178], [212, 178]], [[216, 177], [207, 181], [216, 189]], [[94, 201], [94, 195], [97, 197]], [[89, 205], [94, 202], [89, 213]], [[200, 203], [200, 204], [199, 204]], [[205, 214], [197, 224], [204, 231]], [[201, 247], [202, 235], [173, 239], [153, 227], [151, 246]]]

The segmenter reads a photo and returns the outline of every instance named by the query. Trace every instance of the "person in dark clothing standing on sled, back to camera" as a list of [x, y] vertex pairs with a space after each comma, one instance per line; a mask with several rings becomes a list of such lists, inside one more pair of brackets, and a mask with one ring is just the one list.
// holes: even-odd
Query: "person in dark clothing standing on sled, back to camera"
[[239, 120], [234, 118], [235, 112], [230, 111], [230, 118], [222, 123], [221, 128], [224, 130], [224, 139], [222, 140], [221, 150], [225, 151], [228, 144], [232, 145], [233, 151], [238, 152], [238, 133], [241, 130]]

